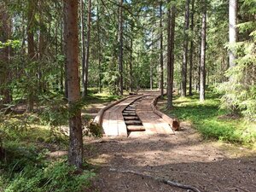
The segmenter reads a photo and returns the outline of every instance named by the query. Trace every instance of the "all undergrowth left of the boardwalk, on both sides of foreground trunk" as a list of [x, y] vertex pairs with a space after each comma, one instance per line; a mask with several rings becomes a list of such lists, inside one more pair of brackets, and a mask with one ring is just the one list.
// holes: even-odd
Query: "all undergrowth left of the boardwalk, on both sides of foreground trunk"
[[[90, 91], [81, 104], [117, 99]], [[49, 157], [50, 151], [67, 151], [68, 137], [61, 132], [67, 127], [67, 102], [56, 96], [41, 101], [37, 113], [0, 113], [0, 192], [84, 191], [95, 176], [90, 168], [77, 172], [66, 156]], [[85, 136], [101, 137], [100, 127], [90, 121], [83, 125]]]

